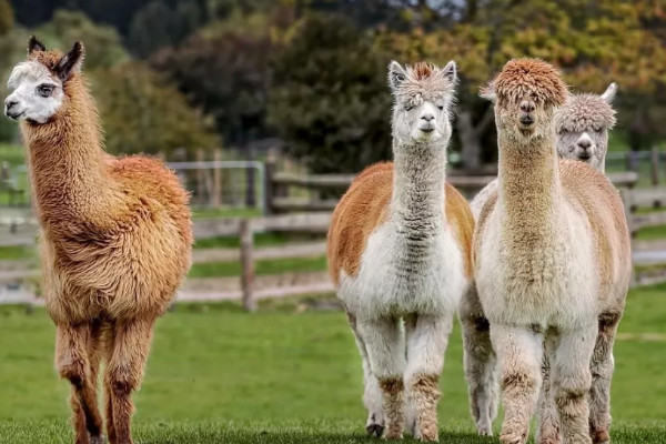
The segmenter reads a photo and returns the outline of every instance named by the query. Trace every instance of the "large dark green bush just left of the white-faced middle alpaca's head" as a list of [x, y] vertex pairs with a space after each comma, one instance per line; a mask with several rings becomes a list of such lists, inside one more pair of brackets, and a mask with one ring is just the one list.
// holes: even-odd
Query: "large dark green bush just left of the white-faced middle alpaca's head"
[[391, 155], [387, 59], [340, 16], [300, 23], [274, 58], [271, 122], [313, 172], [355, 172]]

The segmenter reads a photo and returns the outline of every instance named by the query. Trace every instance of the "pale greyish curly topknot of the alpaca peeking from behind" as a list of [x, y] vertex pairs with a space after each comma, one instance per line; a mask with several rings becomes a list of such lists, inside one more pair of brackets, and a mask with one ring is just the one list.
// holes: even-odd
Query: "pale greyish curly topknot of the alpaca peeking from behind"
[[615, 110], [597, 94], [573, 94], [555, 114], [555, 128], [558, 131], [597, 131], [612, 129], [614, 125]]

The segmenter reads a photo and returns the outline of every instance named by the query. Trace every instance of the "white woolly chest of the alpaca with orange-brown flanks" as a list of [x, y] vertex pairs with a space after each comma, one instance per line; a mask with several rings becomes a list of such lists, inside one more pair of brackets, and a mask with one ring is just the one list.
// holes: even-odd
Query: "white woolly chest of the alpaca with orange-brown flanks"
[[387, 222], [369, 238], [359, 273], [341, 279], [339, 296], [362, 317], [444, 314], [456, 310], [466, 285], [448, 229], [411, 233]]

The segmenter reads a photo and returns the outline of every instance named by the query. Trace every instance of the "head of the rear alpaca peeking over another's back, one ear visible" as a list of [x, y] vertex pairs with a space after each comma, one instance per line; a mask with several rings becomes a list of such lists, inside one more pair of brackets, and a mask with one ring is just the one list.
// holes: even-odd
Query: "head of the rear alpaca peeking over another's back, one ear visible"
[[573, 94], [555, 112], [559, 157], [581, 160], [604, 171], [608, 130], [615, 125], [615, 110], [610, 103], [616, 91], [617, 85], [610, 83], [602, 95]]

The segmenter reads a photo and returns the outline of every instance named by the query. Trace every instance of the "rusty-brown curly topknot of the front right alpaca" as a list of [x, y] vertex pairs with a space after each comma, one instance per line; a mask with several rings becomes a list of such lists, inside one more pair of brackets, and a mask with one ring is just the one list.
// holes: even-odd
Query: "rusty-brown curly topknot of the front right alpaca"
[[559, 107], [565, 103], [567, 89], [561, 72], [538, 59], [509, 60], [494, 80], [495, 94], [512, 102], [526, 95], [538, 103]]

